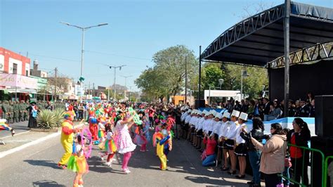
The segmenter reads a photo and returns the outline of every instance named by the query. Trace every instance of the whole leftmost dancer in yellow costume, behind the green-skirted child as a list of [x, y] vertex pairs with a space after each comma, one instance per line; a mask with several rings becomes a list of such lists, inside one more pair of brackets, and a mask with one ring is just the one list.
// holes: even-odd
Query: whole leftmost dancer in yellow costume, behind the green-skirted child
[[68, 160], [70, 160], [70, 156], [72, 155], [72, 145], [73, 145], [73, 134], [77, 133], [79, 129], [74, 129], [74, 124], [72, 122], [73, 117], [70, 113], [65, 114], [65, 121], [61, 124], [61, 138], [60, 142], [63, 145], [65, 153], [61, 158], [60, 162], [58, 162], [58, 167], [62, 169], [66, 169], [66, 165]]

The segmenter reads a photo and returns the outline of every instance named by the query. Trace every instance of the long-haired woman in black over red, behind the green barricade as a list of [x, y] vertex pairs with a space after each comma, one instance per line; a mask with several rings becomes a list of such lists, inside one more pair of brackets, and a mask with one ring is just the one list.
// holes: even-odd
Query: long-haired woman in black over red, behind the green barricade
[[[288, 143], [308, 148], [308, 141], [310, 141], [311, 138], [308, 124], [306, 124], [301, 118], [296, 117], [292, 122], [292, 127], [293, 129], [289, 131], [287, 135]], [[291, 172], [294, 176], [294, 180], [299, 182], [302, 178], [302, 183], [308, 186], [309, 151], [304, 151], [295, 146], [289, 146], [289, 154], [292, 159]]]

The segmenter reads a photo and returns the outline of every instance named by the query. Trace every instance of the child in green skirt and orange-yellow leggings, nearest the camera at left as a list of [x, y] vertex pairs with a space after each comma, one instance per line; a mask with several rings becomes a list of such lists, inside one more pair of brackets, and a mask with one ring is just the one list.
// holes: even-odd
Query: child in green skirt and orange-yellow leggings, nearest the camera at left
[[86, 162], [86, 157], [84, 157], [84, 138], [80, 135], [77, 136], [77, 145], [75, 146], [74, 151], [74, 154], [68, 161], [68, 169], [77, 173], [74, 178], [73, 186], [83, 186], [84, 181], [82, 180], [82, 176], [88, 173], [89, 165]]

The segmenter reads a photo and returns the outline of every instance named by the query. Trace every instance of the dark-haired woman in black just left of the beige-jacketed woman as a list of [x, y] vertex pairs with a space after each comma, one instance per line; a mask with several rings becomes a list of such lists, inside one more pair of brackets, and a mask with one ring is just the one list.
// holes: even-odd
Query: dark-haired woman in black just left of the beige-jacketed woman
[[263, 137], [263, 122], [261, 121], [260, 117], [254, 117], [252, 119], [253, 122], [253, 128], [247, 134], [245, 131], [242, 131], [240, 136], [247, 141], [247, 150], [249, 154], [249, 162], [252, 167], [253, 171], [253, 178], [252, 181], [249, 181], [249, 184], [252, 184], [252, 186], [260, 186], [260, 155], [261, 151], [258, 150], [252, 143], [251, 137], [255, 138], [257, 141], [261, 142]]

